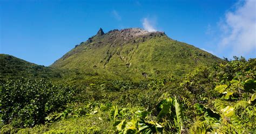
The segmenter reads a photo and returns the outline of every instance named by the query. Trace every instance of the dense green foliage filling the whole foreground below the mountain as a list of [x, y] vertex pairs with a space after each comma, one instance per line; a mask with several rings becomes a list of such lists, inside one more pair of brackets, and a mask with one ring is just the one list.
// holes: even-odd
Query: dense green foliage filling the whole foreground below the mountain
[[235, 58], [198, 67], [182, 79], [119, 80], [77, 88], [43, 80], [5, 81], [1, 131], [254, 133], [255, 67], [255, 59]]

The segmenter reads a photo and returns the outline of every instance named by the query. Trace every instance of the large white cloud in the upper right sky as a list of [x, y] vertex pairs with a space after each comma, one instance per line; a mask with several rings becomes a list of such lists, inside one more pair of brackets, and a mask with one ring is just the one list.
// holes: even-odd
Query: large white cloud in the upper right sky
[[245, 0], [236, 4], [234, 11], [228, 11], [219, 22], [223, 36], [221, 50], [231, 50], [232, 55], [253, 54], [256, 56], [256, 1]]

